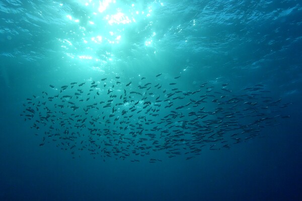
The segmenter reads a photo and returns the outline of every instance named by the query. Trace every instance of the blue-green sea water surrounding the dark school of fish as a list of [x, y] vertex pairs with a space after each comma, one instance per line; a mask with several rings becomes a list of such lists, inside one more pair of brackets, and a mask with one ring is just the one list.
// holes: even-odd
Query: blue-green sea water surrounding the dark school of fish
[[[2, 0], [0, 200], [301, 200], [301, 55], [300, 1]], [[214, 92], [227, 83], [232, 94], [245, 95], [246, 88], [260, 84], [265, 95], [281, 98], [277, 111], [269, 112], [278, 117], [230, 148], [210, 150], [205, 143], [190, 160], [165, 151], [121, 160], [80, 150], [72, 154], [56, 146], [61, 139], [46, 138], [39, 146], [49, 123], [32, 129], [33, 121], [20, 116], [26, 98], [36, 95], [39, 101], [42, 91], [54, 95], [50, 84], [59, 90], [70, 82], [103, 85], [107, 78], [106, 87], [114, 84], [116, 91], [132, 81], [130, 91], [146, 77], [171, 90], [169, 83], [179, 75], [177, 87], [184, 92], [207, 82]], [[102, 97], [109, 99], [106, 93]], [[175, 105], [187, 104], [181, 101]], [[192, 106], [188, 112], [196, 111]]]

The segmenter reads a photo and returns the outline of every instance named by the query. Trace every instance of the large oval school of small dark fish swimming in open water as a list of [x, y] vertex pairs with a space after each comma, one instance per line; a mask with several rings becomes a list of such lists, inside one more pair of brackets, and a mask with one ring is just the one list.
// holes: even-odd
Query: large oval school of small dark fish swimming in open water
[[[262, 84], [237, 94], [224, 84], [204, 82], [184, 90], [181, 76], [122, 81], [120, 76], [98, 81], [49, 85], [48, 91], [24, 102], [21, 116], [29, 121], [40, 146], [54, 143], [72, 158], [91, 155], [150, 163], [165, 157], [196, 157], [203, 149], [229, 149], [278, 125], [282, 109], [291, 103], [274, 99]], [[135, 83], [138, 84], [134, 84]]]

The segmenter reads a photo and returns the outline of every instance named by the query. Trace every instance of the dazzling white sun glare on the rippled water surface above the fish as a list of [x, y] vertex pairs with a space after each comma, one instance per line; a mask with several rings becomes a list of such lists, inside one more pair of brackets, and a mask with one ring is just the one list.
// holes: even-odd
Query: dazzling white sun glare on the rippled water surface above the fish
[[[111, 49], [110, 58], [104, 55], [96, 55], [96, 51], [100, 48], [108, 48], [107, 46], [119, 46], [127, 44], [127, 35], [129, 30], [133, 30], [133, 26], [138, 23], [148, 21], [148, 26], [152, 26], [152, 18], [156, 3], [150, 3], [143, 7], [141, 3], [130, 3], [116, 0], [78, 0], [79, 10], [85, 12], [70, 12], [65, 15], [67, 28], [65, 31], [66, 39], [60, 39], [61, 47], [67, 54], [79, 54], [81, 56], [72, 56], [69, 58], [92, 59], [101, 62], [104, 58], [108, 61], [115, 56], [114, 50]], [[60, 5], [63, 6], [63, 5]], [[64, 5], [65, 6], [65, 5]], [[160, 6], [163, 6], [162, 3]], [[70, 25], [70, 26], [69, 26]], [[133, 33], [134, 34], [134, 33]], [[151, 32], [141, 41], [142, 45], [154, 47], [156, 33]], [[110, 48], [109, 48], [110, 49]], [[85, 56], [87, 54], [91, 56]], [[84, 53], [85, 52], [85, 53]], [[83, 56], [84, 55], [84, 56]]]

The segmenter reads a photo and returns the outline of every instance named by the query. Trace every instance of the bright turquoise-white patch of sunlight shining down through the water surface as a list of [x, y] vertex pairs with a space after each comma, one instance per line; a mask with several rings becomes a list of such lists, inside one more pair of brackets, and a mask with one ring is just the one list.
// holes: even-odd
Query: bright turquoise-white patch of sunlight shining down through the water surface
[[[64, 4], [60, 6], [64, 7]], [[143, 46], [154, 48], [153, 7], [162, 7], [163, 3], [125, 4], [123, 1], [89, 0], [78, 1], [77, 6], [81, 12], [71, 9], [65, 16], [65, 38], [57, 38], [65, 56], [78, 61], [90, 60], [98, 66], [94, 69], [101, 69], [108, 62], [112, 64], [120, 60], [121, 52]], [[149, 37], [137, 40], [142, 37], [141, 34]], [[152, 52], [155, 54], [156, 50]]]

